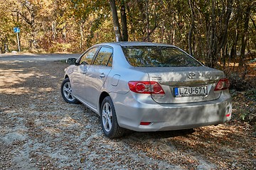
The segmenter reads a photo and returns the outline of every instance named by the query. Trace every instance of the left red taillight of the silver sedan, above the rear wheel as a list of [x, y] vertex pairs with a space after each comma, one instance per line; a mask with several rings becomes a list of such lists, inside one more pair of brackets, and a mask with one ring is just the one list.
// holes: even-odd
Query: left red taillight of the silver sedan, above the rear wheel
[[165, 94], [156, 81], [129, 81], [129, 89], [137, 94]]

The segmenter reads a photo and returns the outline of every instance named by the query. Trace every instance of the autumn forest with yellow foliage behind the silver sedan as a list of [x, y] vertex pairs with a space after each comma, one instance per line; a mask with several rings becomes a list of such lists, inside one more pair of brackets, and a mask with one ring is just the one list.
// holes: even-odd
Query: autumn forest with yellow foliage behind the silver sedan
[[[164, 42], [209, 67], [255, 62], [252, 0], [0, 0], [1, 53], [82, 52], [98, 42]], [[117, 29], [114, 29], [117, 28]], [[238, 66], [238, 67], [237, 67]], [[246, 74], [247, 70], [244, 70]], [[242, 76], [245, 77], [245, 76]]]

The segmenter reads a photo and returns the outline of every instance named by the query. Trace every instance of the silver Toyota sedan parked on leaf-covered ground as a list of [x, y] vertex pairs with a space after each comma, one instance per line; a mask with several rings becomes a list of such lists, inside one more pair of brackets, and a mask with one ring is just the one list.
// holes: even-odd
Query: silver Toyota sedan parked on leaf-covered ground
[[61, 94], [100, 115], [107, 137], [180, 130], [231, 118], [229, 81], [173, 45], [110, 42], [69, 58]]

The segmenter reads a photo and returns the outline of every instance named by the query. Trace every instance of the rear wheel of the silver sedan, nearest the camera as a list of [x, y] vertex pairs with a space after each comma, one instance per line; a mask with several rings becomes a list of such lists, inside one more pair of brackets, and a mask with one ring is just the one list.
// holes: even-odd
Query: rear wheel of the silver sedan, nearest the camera
[[124, 135], [124, 132], [126, 132], [126, 129], [119, 127], [117, 123], [117, 115], [110, 96], [105, 97], [102, 101], [100, 108], [100, 123], [102, 125], [102, 130], [107, 137], [121, 137]]

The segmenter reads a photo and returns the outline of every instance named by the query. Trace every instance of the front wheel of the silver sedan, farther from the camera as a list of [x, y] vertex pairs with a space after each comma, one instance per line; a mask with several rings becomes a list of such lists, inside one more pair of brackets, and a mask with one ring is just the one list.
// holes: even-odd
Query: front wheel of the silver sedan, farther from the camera
[[78, 100], [74, 98], [72, 95], [72, 88], [70, 84], [70, 79], [66, 78], [64, 79], [63, 83], [61, 84], [61, 96], [63, 96], [63, 99], [67, 103], [78, 103]]

